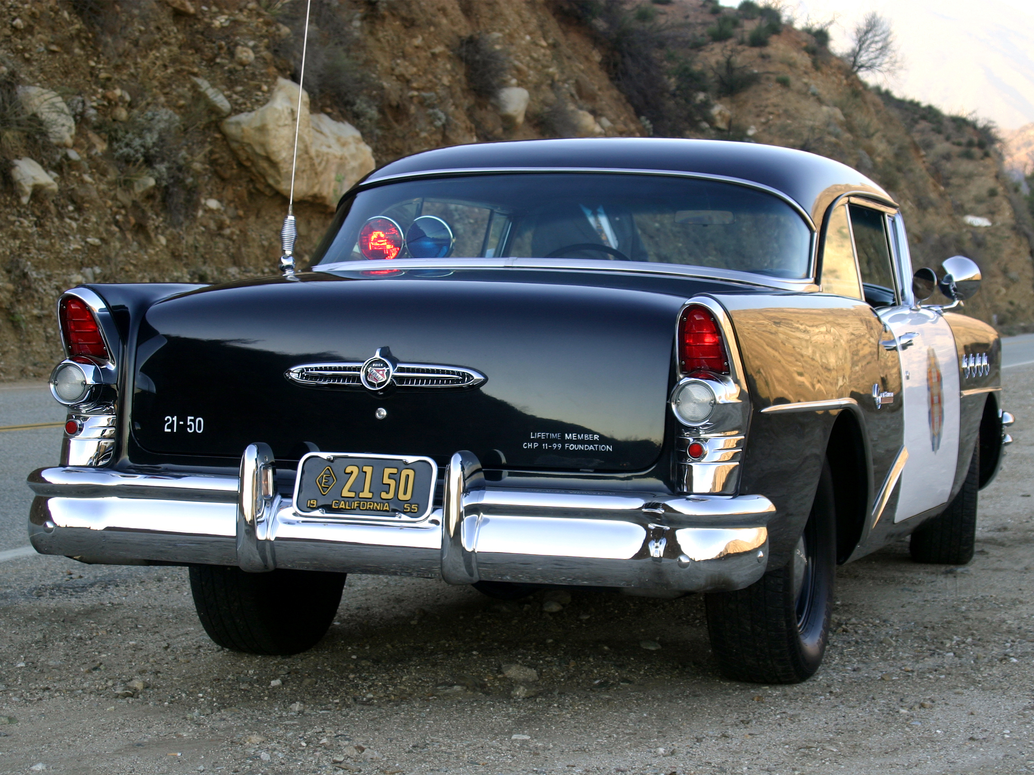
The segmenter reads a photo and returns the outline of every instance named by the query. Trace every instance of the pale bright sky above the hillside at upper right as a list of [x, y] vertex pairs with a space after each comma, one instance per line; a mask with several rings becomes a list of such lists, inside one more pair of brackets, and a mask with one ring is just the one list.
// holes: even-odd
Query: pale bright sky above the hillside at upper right
[[[738, 0], [722, 0], [736, 5]], [[835, 19], [832, 49], [866, 11], [887, 18], [904, 65], [880, 81], [895, 94], [994, 121], [1034, 122], [1034, 0], [785, 0], [796, 23]], [[795, 10], [794, 10], [795, 9]]]

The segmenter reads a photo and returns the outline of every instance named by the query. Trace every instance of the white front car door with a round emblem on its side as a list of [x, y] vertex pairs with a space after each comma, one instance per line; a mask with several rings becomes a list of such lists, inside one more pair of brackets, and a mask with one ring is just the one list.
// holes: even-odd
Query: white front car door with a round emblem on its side
[[[853, 218], [852, 218], [853, 221]], [[908, 459], [899, 485], [894, 522], [944, 505], [959, 460], [960, 384], [954, 336], [943, 315], [913, 304], [912, 262], [901, 214], [884, 218], [893, 248], [902, 303], [879, 311], [894, 336], [904, 393]]]

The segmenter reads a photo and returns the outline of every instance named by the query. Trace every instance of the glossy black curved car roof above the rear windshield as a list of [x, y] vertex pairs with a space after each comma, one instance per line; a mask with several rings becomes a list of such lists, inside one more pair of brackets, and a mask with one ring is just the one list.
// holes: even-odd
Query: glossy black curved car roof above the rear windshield
[[717, 140], [591, 137], [452, 146], [392, 161], [364, 184], [435, 172], [523, 167], [664, 171], [733, 178], [776, 189], [810, 213], [815, 223], [846, 193], [896, 207], [879, 185], [839, 161], [792, 148]]

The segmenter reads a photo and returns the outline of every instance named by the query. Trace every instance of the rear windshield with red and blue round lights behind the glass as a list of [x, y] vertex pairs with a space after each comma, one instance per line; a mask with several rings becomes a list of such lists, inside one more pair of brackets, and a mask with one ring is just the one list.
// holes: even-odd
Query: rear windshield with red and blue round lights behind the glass
[[811, 230], [782, 199], [732, 183], [610, 174], [472, 175], [390, 183], [341, 204], [313, 264], [591, 258], [804, 278]]

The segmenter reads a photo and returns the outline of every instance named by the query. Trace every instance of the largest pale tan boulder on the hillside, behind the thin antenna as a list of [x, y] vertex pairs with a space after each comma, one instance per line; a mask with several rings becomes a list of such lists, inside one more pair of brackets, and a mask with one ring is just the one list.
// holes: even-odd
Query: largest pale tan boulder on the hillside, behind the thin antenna
[[[277, 79], [269, 102], [222, 122], [222, 133], [241, 162], [284, 196], [291, 192], [298, 91], [298, 84]], [[309, 114], [309, 95], [303, 91], [295, 198], [333, 210], [341, 194], [373, 167], [373, 152], [359, 130]]]

